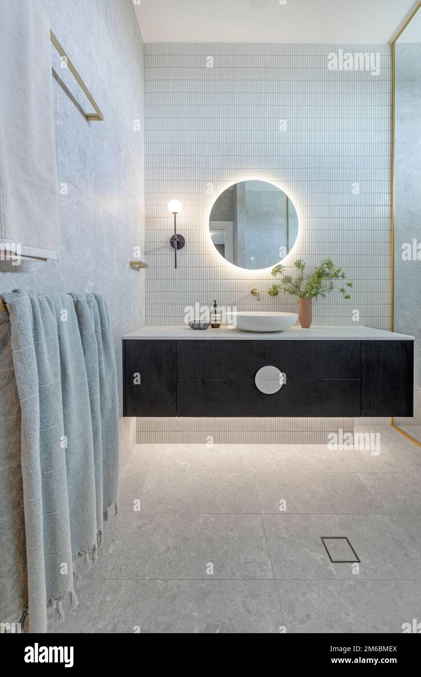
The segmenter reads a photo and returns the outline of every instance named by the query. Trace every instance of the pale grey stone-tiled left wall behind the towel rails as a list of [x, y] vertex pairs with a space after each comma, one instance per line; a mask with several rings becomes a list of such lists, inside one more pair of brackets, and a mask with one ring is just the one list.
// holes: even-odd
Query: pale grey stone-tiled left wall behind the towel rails
[[[89, 102], [53, 49], [60, 259], [0, 263], [0, 288], [107, 294], [112, 318], [120, 410], [121, 335], [145, 324], [145, 271], [130, 269], [133, 247], [144, 257], [144, 47], [131, 0], [41, 0], [51, 29], [101, 108]], [[36, 67], [36, 64], [35, 64]], [[134, 442], [134, 419], [120, 420], [120, 454]]]

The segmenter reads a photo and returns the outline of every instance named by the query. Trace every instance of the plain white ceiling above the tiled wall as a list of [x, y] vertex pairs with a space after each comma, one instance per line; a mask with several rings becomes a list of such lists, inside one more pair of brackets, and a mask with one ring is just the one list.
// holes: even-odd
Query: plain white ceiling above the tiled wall
[[133, 0], [145, 42], [387, 43], [417, 0]]

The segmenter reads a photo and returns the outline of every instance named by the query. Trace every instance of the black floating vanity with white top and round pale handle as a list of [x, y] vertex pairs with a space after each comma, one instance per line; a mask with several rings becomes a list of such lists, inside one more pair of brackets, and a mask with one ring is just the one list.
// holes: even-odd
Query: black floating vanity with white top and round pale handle
[[147, 326], [123, 336], [123, 373], [124, 416], [412, 416], [414, 337]]

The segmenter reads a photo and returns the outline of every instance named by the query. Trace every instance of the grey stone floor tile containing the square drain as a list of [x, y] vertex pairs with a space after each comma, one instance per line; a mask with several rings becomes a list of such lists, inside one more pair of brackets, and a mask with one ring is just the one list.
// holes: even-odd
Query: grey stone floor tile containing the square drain
[[[263, 515], [275, 578], [421, 578], [416, 515]], [[360, 558], [331, 563], [321, 537], [347, 536]]]

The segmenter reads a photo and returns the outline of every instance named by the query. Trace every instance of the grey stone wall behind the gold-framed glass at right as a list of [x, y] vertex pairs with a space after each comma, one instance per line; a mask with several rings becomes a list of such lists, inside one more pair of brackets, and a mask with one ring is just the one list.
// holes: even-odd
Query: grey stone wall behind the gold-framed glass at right
[[421, 442], [421, 43], [395, 45], [394, 328], [415, 336], [414, 418], [395, 423]]

